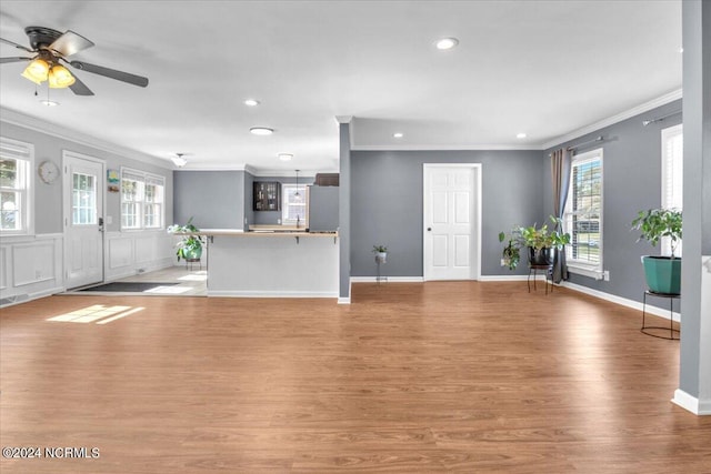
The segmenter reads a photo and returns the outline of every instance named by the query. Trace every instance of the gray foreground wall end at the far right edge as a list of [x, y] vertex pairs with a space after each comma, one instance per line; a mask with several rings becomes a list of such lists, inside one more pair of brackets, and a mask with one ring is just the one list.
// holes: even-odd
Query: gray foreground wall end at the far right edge
[[[684, 1], [684, 255], [679, 387], [711, 407], [711, 304], [702, 256], [711, 254], [711, 2]], [[707, 275], [708, 278], [708, 275]], [[705, 295], [702, 292], [707, 292]]]

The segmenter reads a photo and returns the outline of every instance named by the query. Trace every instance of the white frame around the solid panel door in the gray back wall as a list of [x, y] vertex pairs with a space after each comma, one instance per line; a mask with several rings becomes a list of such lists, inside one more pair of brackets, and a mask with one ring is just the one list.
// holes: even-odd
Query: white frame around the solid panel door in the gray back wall
[[472, 195], [474, 196], [474, 205], [472, 205], [471, 210], [475, 214], [472, 219], [474, 224], [474, 229], [472, 229], [472, 246], [471, 249], [471, 271], [472, 274], [470, 276], [471, 280], [480, 280], [481, 279], [481, 183], [482, 183], [482, 165], [481, 163], [423, 163], [422, 164], [422, 279], [424, 281], [430, 280], [428, 275], [428, 259], [430, 255], [428, 254], [428, 246], [425, 244], [425, 239], [428, 234], [428, 223], [427, 223], [427, 199], [428, 199], [428, 183], [427, 183], [427, 172], [433, 168], [461, 168], [461, 169], [471, 169], [474, 172], [474, 179], [472, 180], [472, 186], [474, 189], [471, 190]]

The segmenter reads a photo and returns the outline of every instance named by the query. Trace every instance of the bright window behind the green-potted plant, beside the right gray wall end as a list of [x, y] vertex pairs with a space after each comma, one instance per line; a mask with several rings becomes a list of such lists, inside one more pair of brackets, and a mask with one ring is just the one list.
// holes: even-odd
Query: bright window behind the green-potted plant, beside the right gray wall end
[[[683, 210], [683, 125], [662, 130], [662, 208]], [[671, 255], [671, 239], [662, 238], [662, 255]], [[674, 255], [681, 256], [681, 242]]]

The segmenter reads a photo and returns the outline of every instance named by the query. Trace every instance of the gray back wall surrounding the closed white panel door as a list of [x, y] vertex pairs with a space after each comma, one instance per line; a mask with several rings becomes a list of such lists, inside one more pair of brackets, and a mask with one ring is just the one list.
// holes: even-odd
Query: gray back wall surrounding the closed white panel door
[[351, 274], [373, 276], [375, 244], [388, 246], [381, 274], [422, 276], [422, 164], [482, 163], [482, 275], [524, 274], [502, 268], [500, 231], [543, 222], [540, 151], [352, 151]]

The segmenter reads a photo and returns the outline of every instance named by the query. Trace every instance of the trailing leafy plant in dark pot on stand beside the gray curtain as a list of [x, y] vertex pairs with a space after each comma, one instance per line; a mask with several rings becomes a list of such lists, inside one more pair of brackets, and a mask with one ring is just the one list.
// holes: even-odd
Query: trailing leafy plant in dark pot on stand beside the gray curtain
[[[562, 221], [550, 216], [555, 229], [560, 228]], [[550, 265], [553, 262], [552, 250], [561, 250], [563, 245], [570, 243], [570, 234], [558, 230], [550, 231], [548, 224], [537, 226], [514, 226], [509, 234], [499, 233], [499, 242], [508, 241], [503, 248], [502, 256], [509, 270], [514, 270], [521, 261], [521, 249], [528, 248], [529, 263], [531, 265]]]

